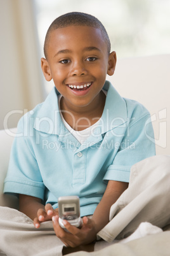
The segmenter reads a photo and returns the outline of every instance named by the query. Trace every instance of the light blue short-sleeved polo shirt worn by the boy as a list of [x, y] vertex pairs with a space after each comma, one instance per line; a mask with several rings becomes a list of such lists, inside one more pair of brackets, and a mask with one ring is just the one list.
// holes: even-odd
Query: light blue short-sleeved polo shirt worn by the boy
[[122, 98], [109, 82], [103, 89], [100, 123], [82, 144], [63, 125], [55, 88], [20, 119], [4, 192], [39, 197], [53, 208], [58, 197], [76, 195], [81, 216], [92, 215], [108, 180], [128, 182], [131, 166], [155, 155], [148, 111]]

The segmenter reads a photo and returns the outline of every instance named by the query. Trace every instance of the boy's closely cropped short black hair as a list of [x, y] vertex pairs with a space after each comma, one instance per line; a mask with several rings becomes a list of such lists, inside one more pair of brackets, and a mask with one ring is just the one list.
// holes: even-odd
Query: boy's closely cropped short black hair
[[110, 53], [110, 48], [111, 48], [110, 39], [108, 37], [105, 27], [100, 22], [100, 20], [98, 20], [98, 18], [88, 13], [81, 13], [81, 12], [74, 11], [71, 13], [65, 13], [64, 15], [56, 18], [49, 26], [49, 29], [46, 33], [46, 38], [44, 41], [44, 55], [46, 59], [47, 59], [47, 48], [49, 43], [50, 32], [54, 31], [55, 29], [60, 29], [62, 27], [68, 27], [69, 25], [86, 25], [89, 27], [96, 27], [97, 29], [100, 29], [101, 34], [105, 39], [105, 42], [107, 45], [108, 54]]

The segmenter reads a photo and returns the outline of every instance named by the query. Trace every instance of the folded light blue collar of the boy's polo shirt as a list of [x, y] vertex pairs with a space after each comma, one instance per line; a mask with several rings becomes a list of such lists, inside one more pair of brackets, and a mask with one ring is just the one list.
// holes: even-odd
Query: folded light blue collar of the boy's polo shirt
[[[125, 124], [127, 118], [126, 102], [114, 89], [112, 84], [105, 82], [103, 90], [107, 91], [105, 108], [100, 118], [100, 125], [96, 127], [96, 134], [103, 134], [115, 129], [119, 125]], [[58, 106], [58, 90], [54, 87], [48, 97], [41, 104], [41, 107], [35, 115], [34, 128], [37, 131], [48, 134], [68, 135], [68, 131], [63, 125], [62, 117]]]

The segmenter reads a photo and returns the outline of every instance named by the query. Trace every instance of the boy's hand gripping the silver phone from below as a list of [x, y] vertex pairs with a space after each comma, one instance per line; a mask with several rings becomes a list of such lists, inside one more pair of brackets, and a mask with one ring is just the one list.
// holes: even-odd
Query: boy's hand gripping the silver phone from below
[[70, 225], [67, 220], [63, 220], [63, 224], [69, 232], [60, 227], [58, 223], [58, 215], [54, 215], [52, 220], [55, 234], [58, 238], [60, 238], [60, 240], [62, 240], [65, 246], [74, 248], [79, 245], [87, 245], [96, 239], [95, 222], [88, 217], [82, 218], [81, 229]]

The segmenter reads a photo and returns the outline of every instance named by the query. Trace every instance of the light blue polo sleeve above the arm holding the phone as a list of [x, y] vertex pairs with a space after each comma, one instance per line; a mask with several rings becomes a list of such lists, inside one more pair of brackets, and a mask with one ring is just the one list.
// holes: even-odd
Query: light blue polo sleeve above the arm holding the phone
[[114, 161], [108, 166], [103, 181], [116, 180], [129, 182], [131, 166], [155, 155], [154, 130], [150, 115], [129, 122]]

